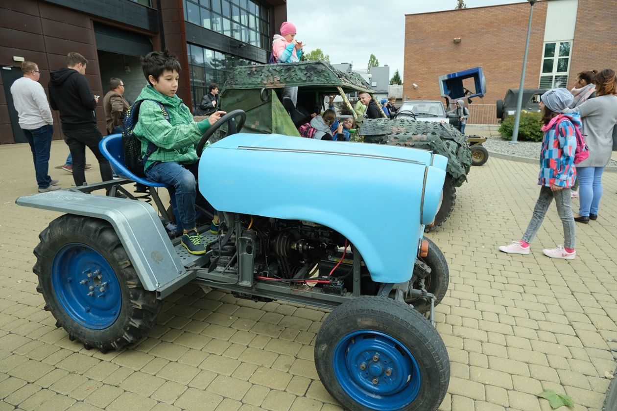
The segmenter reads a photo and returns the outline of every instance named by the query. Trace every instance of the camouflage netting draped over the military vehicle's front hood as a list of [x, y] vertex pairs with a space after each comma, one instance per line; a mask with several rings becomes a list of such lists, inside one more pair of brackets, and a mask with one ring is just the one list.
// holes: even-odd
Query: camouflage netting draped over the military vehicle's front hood
[[447, 123], [366, 119], [359, 132], [367, 143], [402, 145], [431, 150], [448, 158], [447, 173], [460, 187], [471, 168], [471, 150], [463, 134]]

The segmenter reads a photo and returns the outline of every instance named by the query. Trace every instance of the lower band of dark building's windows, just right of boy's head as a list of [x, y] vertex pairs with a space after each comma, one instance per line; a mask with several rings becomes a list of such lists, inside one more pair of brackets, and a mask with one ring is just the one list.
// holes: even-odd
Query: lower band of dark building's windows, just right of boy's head
[[189, 58], [189, 76], [191, 78], [191, 97], [193, 107], [201, 102], [208, 92], [210, 83], [217, 83], [223, 88], [230, 71], [236, 66], [257, 64], [252, 60], [241, 59], [238, 56], [221, 53], [195, 44], [186, 44]]

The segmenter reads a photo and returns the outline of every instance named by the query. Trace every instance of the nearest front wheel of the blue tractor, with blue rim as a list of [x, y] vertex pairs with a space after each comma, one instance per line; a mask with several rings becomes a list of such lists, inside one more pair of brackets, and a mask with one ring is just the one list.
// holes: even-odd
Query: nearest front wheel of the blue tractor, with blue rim
[[328, 393], [350, 411], [433, 411], [450, 381], [448, 353], [433, 325], [411, 306], [378, 296], [334, 309], [317, 334], [315, 366]]

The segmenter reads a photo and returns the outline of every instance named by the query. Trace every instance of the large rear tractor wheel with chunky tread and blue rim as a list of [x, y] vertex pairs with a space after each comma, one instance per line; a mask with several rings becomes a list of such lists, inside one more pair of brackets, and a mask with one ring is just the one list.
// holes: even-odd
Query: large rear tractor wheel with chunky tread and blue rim
[[102, 352], [119, 350], [154, 327], [162, 301], [144, 290], [108, 222], [66, 214], [52, 221], [39, 239], [36, 290], [71, 340]]

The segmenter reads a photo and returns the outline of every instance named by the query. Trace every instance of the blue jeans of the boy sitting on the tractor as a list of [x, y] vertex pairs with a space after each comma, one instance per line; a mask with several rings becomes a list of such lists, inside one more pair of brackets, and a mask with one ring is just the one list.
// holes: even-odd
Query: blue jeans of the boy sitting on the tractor
[[[155, 182], [170, 185], [170, 195], [175, 195], [178, 222], [184, 229], [193, 229], [196, 219], [197, 163], [153, 163], [146, 169], [146, 177]], [[172, 205], [173, 206], [173, 205]], [[178, 224], [179, 225], [179, 224]]]

